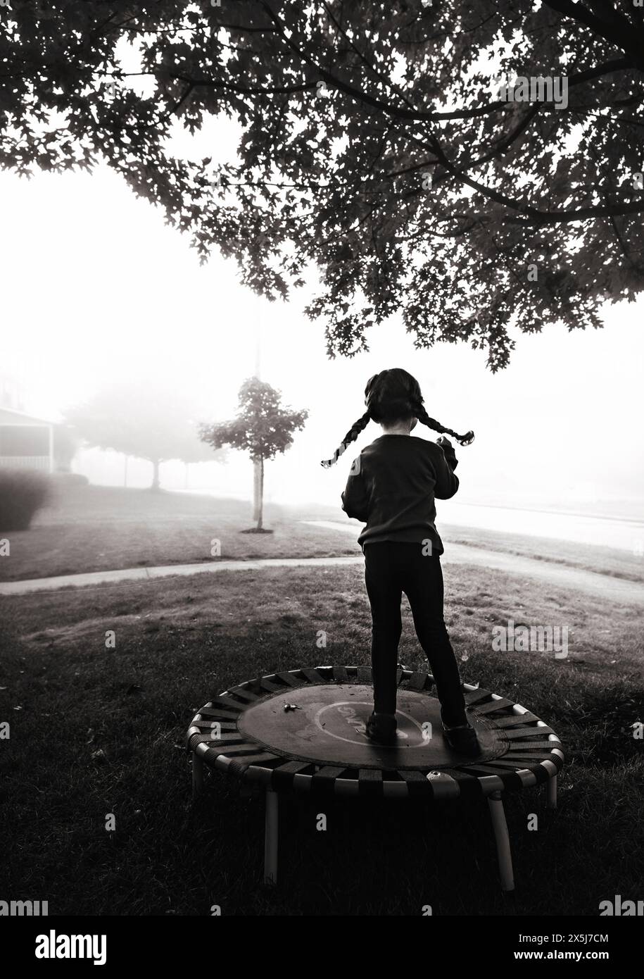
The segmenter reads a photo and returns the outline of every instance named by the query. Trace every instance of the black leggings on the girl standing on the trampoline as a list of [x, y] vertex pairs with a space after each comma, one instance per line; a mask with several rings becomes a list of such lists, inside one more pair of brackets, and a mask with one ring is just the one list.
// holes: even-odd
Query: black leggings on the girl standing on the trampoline
[[424, 555], [422, 543], [386, 540], [365, 544], [364, 560], [373, 621], [374, 710], [395, 713], [398, 642], [402, 631], [400, 602], [404, 591], [416, 635], [436, 680], [443, 720], [447, 724], [466, 723], [458, 666], [443, 619], [440, 558]]

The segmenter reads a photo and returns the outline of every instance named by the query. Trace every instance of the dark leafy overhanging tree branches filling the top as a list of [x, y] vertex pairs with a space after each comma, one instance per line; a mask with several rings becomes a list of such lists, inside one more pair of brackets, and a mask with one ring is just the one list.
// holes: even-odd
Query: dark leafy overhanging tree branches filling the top
[[[11, 0], [0, 164], [107, 161], [268, 296], [316, 264], [332, 355], [399, 312], [496, 369], [512, 322], [597, 327], [644, 286], [639, 4]], [[515, 76], [567, 97], [521, 101]], [[177, 120], [217, 115], [235, 163], [178, 159]]]

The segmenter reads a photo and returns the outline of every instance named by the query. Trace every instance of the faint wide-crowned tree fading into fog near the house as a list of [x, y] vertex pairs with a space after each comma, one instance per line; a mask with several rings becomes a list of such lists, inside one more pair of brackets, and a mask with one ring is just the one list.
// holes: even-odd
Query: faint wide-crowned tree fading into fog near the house
[[70, 408], [66, 421], [88, 445], [147, 459], [153, 467], [151, 489], [160, 489], [161, 462], [225, 459], [224, 450], [208, 450], [199, 438], [198, 410], [168, 388], [121, 382]]

